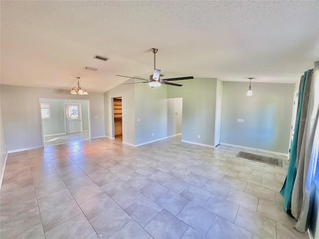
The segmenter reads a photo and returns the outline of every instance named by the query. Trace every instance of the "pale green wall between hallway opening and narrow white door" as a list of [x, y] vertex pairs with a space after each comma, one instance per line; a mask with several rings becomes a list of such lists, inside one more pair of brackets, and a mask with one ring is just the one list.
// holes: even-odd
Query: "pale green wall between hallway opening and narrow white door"
[[183, 99], [182, 140], [213, 146], [217, 79], [196, 78], [178, 83], [183, 86], [167, 87], [167, 98]]

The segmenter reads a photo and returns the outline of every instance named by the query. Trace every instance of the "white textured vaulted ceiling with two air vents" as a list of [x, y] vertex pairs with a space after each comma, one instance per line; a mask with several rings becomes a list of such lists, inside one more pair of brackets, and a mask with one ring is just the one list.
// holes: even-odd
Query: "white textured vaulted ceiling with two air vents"
[[[1, 84], [106, 92], [148, 77], [295, 83], [319, 60], [319, 1], [1, 1]], [[98, 54], [110, 58], [94, 59]], [[98, 71], [85, 70], [85, 66]]]

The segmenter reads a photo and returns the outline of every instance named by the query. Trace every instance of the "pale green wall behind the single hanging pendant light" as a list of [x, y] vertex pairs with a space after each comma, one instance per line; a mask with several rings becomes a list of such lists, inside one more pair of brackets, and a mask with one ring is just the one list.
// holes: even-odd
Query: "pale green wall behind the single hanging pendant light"
[[[294, 84], [223, 82], [222, 143], [288, 153]], [[237, 122], [244, 119], [244, 122]]]

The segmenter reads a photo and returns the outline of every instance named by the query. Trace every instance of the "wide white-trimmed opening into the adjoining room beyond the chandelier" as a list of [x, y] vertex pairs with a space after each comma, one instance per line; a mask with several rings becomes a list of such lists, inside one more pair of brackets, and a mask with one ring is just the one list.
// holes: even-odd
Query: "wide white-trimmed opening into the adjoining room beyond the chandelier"
[[91, 138], [89, 100], [39, 99], [42, 146]]

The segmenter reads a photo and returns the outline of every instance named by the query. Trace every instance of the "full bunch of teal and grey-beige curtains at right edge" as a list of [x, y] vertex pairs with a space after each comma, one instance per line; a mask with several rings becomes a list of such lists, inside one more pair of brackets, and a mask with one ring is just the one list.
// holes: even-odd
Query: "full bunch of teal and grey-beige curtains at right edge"
[[295, 134], [288, 173], [281, 190], [284, 208], [295, 219], [295, 230], [307, 231], [313, 214], [315, 174], [319, 158], [319, 61], [305, 72], [299, 87]]

